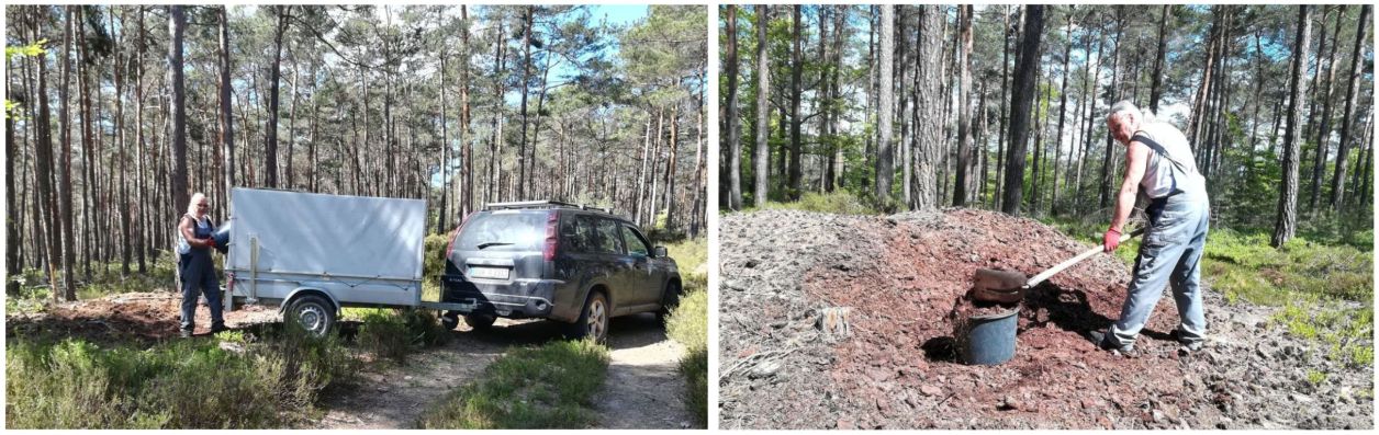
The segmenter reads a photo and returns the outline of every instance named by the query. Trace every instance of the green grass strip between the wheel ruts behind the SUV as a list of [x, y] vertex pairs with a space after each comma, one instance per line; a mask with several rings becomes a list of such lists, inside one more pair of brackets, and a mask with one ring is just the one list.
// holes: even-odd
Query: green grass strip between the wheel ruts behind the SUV
[[479, 377], [426, 410], [426, 429], [585, 428], [608, 374], [608, 348], [552, 341], [503, 355]]

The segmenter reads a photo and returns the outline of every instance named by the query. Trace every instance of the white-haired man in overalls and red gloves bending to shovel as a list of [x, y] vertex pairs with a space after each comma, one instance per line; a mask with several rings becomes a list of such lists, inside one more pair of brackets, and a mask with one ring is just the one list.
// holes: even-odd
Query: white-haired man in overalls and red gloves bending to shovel
[[1197, 351], [1207, 329], [1198, 285], [1198, 263], [1209, 220], [1207, 180], [1197, 172], [1183, 132], [1172, 124], [1156, 121], [1153, 114], [1142, 113], [1134, 103], [1123, 100], [1113, 105], [1106, 127], [1116, 142], [1125, 146], [1125, 179], [1102, 246], [1111, 252], [1120, 245], [1125, 220], [1142, 189], [1150, 200], [1145, 209], [1149, 226], [1135, 259], [1120, 319], [1106, 332], [1094, 330], [1091, 339], [1103, 350], [1136, 357], [1135, 337], [1164, 295], [1164, 286], [1171, 286], [1180, 318], [1175, 330], [1182, 344], [1179, 352]]

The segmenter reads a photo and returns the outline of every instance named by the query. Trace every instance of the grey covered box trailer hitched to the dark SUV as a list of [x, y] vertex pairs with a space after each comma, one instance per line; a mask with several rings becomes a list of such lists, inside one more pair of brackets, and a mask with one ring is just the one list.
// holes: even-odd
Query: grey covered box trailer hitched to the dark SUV
[[422, 301], [426, 201], [230, 190], [228, 310], [277, 306], [308, 332], [343, 307], [461, 310]]

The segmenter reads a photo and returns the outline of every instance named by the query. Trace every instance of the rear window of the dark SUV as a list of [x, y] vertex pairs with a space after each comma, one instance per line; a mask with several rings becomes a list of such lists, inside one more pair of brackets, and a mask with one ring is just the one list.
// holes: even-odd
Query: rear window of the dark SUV
[[477, 213], [455, 240], [456, 251], [541, 251], [546, 242], [546, 212]]

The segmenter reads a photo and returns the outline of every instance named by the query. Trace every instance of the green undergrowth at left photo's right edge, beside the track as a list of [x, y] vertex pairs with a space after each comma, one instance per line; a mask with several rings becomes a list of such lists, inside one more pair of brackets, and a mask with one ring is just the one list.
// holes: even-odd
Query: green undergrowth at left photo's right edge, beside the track
[[666, 246], [680, 264], [684, 295], [666, 317], [666, 335], [685, 347], [680, 374], [685, 379], [685, 403], [699, 427], [709, 424], [709, 244], [706, 238], [685, 240]]

